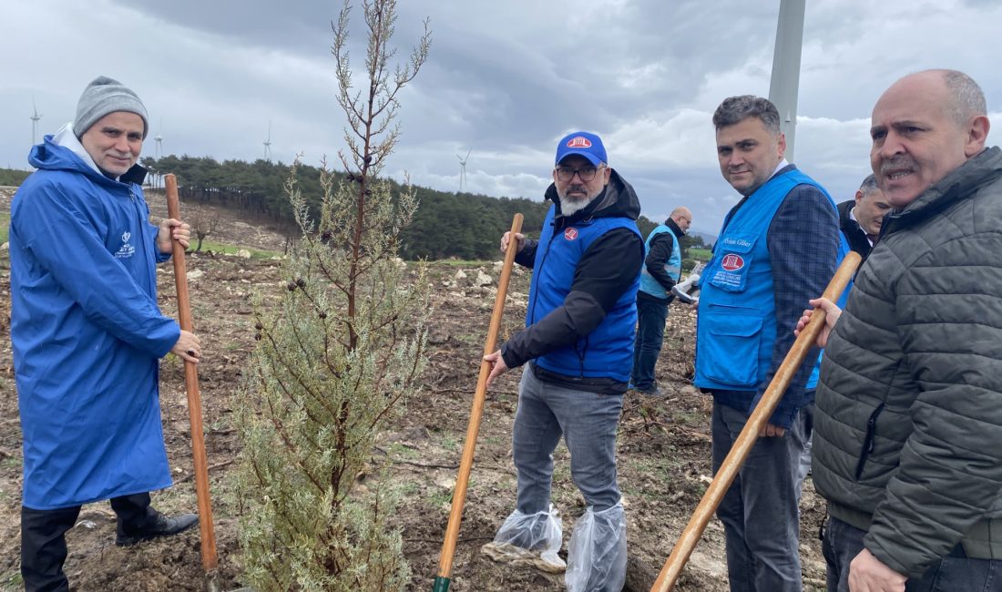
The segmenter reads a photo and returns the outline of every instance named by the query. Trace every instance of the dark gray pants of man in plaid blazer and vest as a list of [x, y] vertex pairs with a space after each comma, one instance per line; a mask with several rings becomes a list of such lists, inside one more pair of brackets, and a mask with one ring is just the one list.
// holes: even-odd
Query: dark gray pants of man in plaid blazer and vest
[[[801, 592], [801, 456], [813, 425], [814, 403], [801, 409], [782, 438], [760, 438], [723, 496], [731, 592]], [[723, 464], [748, 414], [713, 403], [713, 474]]]

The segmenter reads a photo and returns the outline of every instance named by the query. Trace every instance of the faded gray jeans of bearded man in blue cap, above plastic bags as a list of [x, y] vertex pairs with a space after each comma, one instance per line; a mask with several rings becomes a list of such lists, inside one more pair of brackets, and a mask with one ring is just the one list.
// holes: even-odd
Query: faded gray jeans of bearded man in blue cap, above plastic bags
[[570, 472], [594, 512], [619, 503], [616, 485], [616, 429], [622, 395], [599, 395], [539, 381], [528, 365], [522, 372], [512, 456], [518, 471], [518, 511], [550, 507], [553, 451], [563, 436]]

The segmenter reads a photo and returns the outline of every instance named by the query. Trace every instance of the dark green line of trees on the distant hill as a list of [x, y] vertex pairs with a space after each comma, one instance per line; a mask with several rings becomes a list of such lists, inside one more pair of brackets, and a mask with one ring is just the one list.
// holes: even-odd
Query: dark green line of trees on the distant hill
[[[145, 157], [142, 165], [150, 171], [149, 180], [154, 183], [161, 175], [174, 173], [182, 199], [237, 210], [250, 220], [277, 223], [294, 238], [299, 232], [285, 190], [289, 164], [264, 159], [220, 162], [207, 156], [169, 155]], [[0, 169], [0, 185], [19, 185], [28, 174], [23, 170]], [[339, 171], [331, 174], [335, 183], [347, 175]], [[320, 167], [300, 164], [297, 168], [299, 188], [313, 211], [319, 210], [323, 195], [320, 178]], [[392, 179], [387, 182], [395, 194], [399, 192], [400, 183]], [[401, 233], [400, 254], [408, 259], [499, 258], [498, 239], [511, 227], [515, 212], [525, 216], [523, 232], [538, 236], [549, 208], [549, 203], [524, 197], [488, 197], [427, 187], [415, 189], [420, 206], [411, 225]], [[641, 215], [637, 225], [646, 237], [657, 224]], [[680, 242], [683, 256], [689, 247], [707, 246], [697, 235], [683, 236]], [[691, 264], [684, 266], [688, 268]]]

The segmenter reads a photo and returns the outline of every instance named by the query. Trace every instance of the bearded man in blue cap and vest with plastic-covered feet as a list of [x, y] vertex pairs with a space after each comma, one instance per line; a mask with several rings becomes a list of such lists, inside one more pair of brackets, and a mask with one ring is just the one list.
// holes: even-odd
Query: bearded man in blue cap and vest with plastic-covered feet
[[553, 202], [539, 240], [518, 241], [515, 260], [532, 268], [525, 330], [485, 360], [488, 385], [527, 364], [512, 430], [518, 501], [484, 552], [542, 556], [562, 569], [561, 526], [550, 505], [553, 451], [563, 436], [571, 476], [587, 510], [568, 545], [565, 576], [579, 590], [620, 590], [626, 577], [626, 522], [616, 483], [615, 439], [629, 382], [643, 240], [640, 203], [609, 167], [602, 140], [574, 132], [557, 144]]

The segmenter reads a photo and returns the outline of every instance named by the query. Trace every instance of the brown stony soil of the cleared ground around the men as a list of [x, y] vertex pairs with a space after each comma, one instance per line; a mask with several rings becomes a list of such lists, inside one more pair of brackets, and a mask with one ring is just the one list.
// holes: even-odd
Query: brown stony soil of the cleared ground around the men
[[[0, 211], [9, 211], [10, 191], [0, 188]], [[165, 213], [162, 199], [150, 198], [154, 217]], [[182, 203], [182, 213], [200, 211]], [[209, 212], [210, 213], [210, 212]], [[221, 212], [221, 223], [210, 237], [254, 248], [281, 250], [284, 237]], [[278, 294], [283, 278], [280, 262], [235, 256], [194, 254], [189, 271], [201, 276], [190, 282], [195, 328], [204, 344], [205, 360], [198, 377], [204, 408], [206, 448], [213, 495], [215, 535], [219, 555], [218, 581], [223, 590], [240, 586], [240, 551], [236, 543], [236, 504], [227, 473], [238, 443], [230, 422], [231, 396], [241, 368], [254, 347], [252, 291]], [[409, 590], [431, 590], [449, 517], [459, 458], [476, 387], [479, 357], [493, 306], [493, 287], [475, 286], [476, 267], [447, 261], [432, 264], [435, 302], [430, 339], [431, 360], [421, 392], [408, 413], [387, 434], [376, 452], [389, 460], [395, 487], [403, 493], [397, 523], [403, 528], [405, 553], [413, 571]], [[480, 270], [497, 277], [490, 262]], [[161, 266], [160, 306], [176, 312], [173, 273]], [[509, 288], [502, 336], [520, 327], [525, 312], [528, 273], [515, 273]], [[19, 512], [21, 432], [14, 387], [10, 319], [10, 264], [0, 251], [0, 590], [20, 588]], [[692, 371], [694, 314], [672, 307], [658, 362], [663, 399], [627, 395], [618, 440], [619, 483], [628, 518], [628, 590], [648, 590], [672, 545], [684, 528], [709, 480], [709, 400], [688, 378]], [[161, 404], [173, 488], [155, 493], [154, 505], [165, 512], [193, 511], [194, 485], [183, 371], [176, 361], [164, 361]], [[518, 372], [499, 379], [488, 396], [477, 441], [451, 590], [500, 592], [563, 590], [563, 578], [532, 568], [512, 568], [480, 554], [511, 512], [515, 472], [511, 464], [511, 423], [517, 402]], [[564, 542], [583, 501], [570, 479], [567, 451], [558, 448], [553, 502], [564, 517]], [[805, 589], [824, 589], [824, 559], [818, 527], [824, 516], [822, 500], [810, 479], [802, 503], [801, 556]], [[85, 591], [199, 590], [203, 572], [196, 531], [172, 539], [120, 549], [113, 544], [114, 515], [106, 503], [85, 506], [68, 536], [66, 562], [74, 589]], [[563, 553], [566, 552], [566, 547]], [[725, 590], [722, 527], [714, 519], [689, 560], [679, 591]]]

